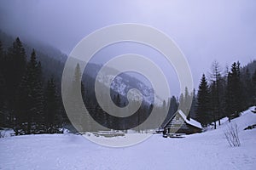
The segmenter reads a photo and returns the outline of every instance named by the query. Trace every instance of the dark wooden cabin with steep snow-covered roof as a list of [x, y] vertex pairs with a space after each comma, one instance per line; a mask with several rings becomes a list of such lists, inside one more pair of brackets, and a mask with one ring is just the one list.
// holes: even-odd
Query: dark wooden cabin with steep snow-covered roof
[[167, 134], [172, 133], [201, 133], [202, 127], [200, 122], [196, 122], [194, 119], [187, 119], [187, 116], [183, 111], [178, 110], [171, 119], [166, 123], [164, 129]]

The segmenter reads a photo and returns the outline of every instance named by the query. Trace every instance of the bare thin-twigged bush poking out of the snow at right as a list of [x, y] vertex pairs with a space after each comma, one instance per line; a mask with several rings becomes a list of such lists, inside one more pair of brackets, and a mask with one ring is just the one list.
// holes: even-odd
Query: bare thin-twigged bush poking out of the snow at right
[[238, 147], [241, 145], [236, 123], [232, 123], [228, 126], [224, 135], [231, 147]]

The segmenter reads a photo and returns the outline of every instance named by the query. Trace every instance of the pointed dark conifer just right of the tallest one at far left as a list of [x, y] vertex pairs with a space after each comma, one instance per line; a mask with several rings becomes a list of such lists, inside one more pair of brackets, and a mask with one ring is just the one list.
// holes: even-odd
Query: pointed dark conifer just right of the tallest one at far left
[[22, 77], [16, 107], [16, 134], [42, 133], [43, 126], [43, 85], [39, 77], [40, 67], [35, 50], [26, 66], [26, 73]]

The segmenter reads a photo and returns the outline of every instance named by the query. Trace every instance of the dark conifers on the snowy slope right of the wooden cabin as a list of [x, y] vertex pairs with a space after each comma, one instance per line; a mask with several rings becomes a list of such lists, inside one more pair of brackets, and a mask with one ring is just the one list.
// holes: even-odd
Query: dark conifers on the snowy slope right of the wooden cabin
[[[254, 61], [255, 62], [255, 61]], [[224, 116], [231, 119], [240, 116], [241, 111], [256, 105], [256, 69], [253, 74], [247, 67], [241, 68], [240, 62], [234, 62], [230, 69], [222, 73], [217, 61], [212, 64], [209, 79], [201, 77], [195, 105], [195, 119], [204, 127]]]

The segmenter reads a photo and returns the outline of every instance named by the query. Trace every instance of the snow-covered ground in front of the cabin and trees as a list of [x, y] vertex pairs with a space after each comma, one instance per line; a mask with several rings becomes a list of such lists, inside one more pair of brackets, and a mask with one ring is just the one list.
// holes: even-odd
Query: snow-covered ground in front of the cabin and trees
[[8, 137], [0, 139], [0, 169], [255, 169], [256, 128], [243, 129], [256, 124], [256, 114], [248, 110], [232, 120], [241, 147], [230, 147], [224, 138], [226, 121], [206, 133], [183, 139], [154, 134], [125, 148], [104, 147], [74, 134]]

